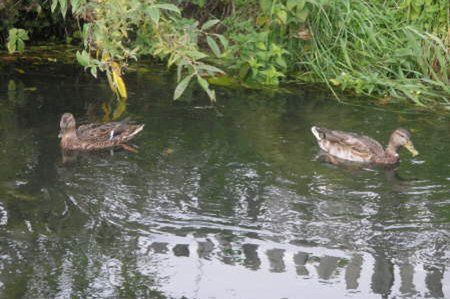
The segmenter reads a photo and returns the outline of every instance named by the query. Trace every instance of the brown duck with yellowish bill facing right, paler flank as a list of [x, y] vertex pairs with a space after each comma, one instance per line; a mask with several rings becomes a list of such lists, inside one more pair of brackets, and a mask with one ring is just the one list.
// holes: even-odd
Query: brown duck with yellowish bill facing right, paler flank
[[378, 141], [365, 135], [316, 126], [311, 128], [311, 132], [323, 151], [342, 160], [385, 165], [396, 164], [400, 160], [397, 151], [401, 146], [410, 151], [413, 157], [419, 154], [411, 141], [411, 133], [403, 128], [392, 132], [386, 149]]

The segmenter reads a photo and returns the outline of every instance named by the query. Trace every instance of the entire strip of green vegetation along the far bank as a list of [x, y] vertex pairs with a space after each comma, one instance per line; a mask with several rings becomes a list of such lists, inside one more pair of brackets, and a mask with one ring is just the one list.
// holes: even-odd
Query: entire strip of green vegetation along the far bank
[[448, 0], [17, 3], [0, 4], [10, 52], [23, 50], [22, 29], [32, 40], [48, 40], [43, 32], [79, 40], [78, 62], [94, 77], [105, 72], [119, 97], [127, 96], [129, 61], [150, 55], [176, 69], [175, 99], [194, 79], [214, 101], [210, 79], [226, 74], [247, 84], [324, 83], [333, 92], [450, 109]]

